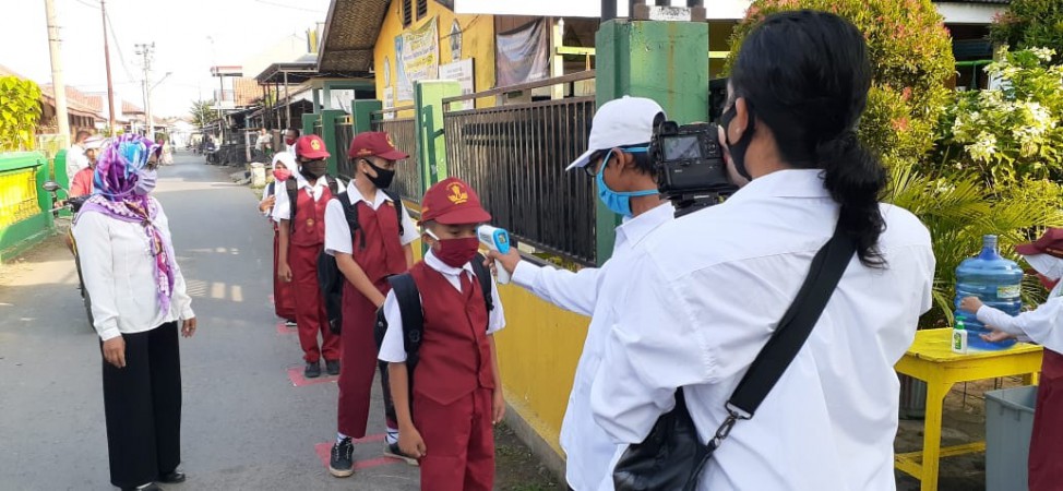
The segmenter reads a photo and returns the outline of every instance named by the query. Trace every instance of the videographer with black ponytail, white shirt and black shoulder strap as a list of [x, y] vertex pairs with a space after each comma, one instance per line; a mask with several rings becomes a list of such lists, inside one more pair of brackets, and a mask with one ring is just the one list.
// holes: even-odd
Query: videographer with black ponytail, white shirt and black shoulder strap
[[633, 252], [637, 280], [614, 303], [595, 419], [619, 443], [643, 442], [682, 387], [704, 444], [836, 226], [856, 249], [808, 340], [698, 489], [895, 489], [893, 366], [931, 307], [934, 258], [913, 215], [877, 202], [886, 170], [856, 135], [870, 85], [863, 35], [848, 21], [767, 17], [739, 51], [721, 118], [729, 170], [749, 182]]

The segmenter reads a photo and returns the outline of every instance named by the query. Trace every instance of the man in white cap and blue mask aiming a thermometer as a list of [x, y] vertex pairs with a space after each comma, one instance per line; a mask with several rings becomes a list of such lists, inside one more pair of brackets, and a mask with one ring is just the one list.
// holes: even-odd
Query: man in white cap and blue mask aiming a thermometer
[[608, 466], [618, 446], [594, 421], [590, 386], [598, 378], [606, 335], [617, 322], [616, 302], [621, 301], [620, 294], [633, 280], [629, 275], [631, 251], [674, 215], [672, 205], [657, 193], [646, 152], [655, 122], [664, 119], [664, 109], [650, 99], [624, 97], [604, 104], [595, 113], [589, 149], [568, 168], [584, 169], [594, 176], [599, 194], [614, 196], [604, 201], [620, 208], [614, 212], [624, 218], [623, 225], [617, 227], [612, 256], [600, 268], [573, 273], [522, 261], [515, 249], [505, 255], [491, 253], [513, 275], [517, 286], [562, 309], [592, 318], [561, 423], [561, 447], [568, 456], [565, 480], [576, 491], [612, 489]]

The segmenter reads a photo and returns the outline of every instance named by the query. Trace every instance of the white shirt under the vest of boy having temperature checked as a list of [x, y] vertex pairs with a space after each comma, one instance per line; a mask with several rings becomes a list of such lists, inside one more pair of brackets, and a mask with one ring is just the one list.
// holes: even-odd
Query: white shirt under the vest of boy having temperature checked
[[[444, 264], [432, 251], [425, 254], [425, 265], [443, 274], [446, 282], [454, 289], [462, 291], [461, 274], [468, 275], [473, 280], [473, 288], [479, 288], [479, 280], [473, 273], [473, 265], [466, 264], [464, 267], [451, 267]], [[423, 297], [425, 292], [421, 292]], [[505, 313], [502, 311], [502, 299], [499, 298], [498, 286], [491, 280], [491, 300], [494, 302], [494, 310], [488, 313], [487, 334], [494, 334], [505, 327]], [[387, 321], [387, 331], [384, 332], [384, 340], [380, 345], [379, 358], [389, 363], [402, 363], [406, 361], [406, 347], [403, 345], [403, 312], [398, 308], [398, 300], [395, 292], [389, 291], [384, 298], [384, 320]]]

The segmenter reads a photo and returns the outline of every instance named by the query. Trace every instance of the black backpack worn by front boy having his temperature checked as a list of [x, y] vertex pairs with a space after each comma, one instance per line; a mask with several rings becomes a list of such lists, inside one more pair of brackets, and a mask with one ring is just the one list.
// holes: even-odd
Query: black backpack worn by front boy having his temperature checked
[[[483, 255], [477, 253], [473, 258], [473, 272], [483, 291], [483, 303], [487, 307], [488, 315], [494, 310], [494, 300], [491, 297], [491, 272], [483, 265]], [[425, 337], [425, 312], [421, 310], [421, 296], [417, 290], [417, 284], [409, 273], [403, 273], [387, 278], [391, 283], [392, 291], [395, 292], [395, 300], [398, 301], [398, 311], [403, 314], [403, 347], [406, 350], [406, 369], [410, 387], [414, 386], [414, 368], [417, 367], [418, 350]], [[483, 326], [487, 331], [488, 326]], [[384, 333], [387, 332], [387, 320], [384, 319], [384, 309], [377, 309], [377, 325], [373, 326], [373, 337], [377, 340], [377, 350], [384, 343]]]

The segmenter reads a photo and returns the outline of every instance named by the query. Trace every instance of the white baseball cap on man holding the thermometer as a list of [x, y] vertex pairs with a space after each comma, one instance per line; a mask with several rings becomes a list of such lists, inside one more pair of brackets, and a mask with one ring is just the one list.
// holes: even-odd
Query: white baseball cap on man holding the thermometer
[[590, 155], [598, 151], [649, 143], [654, 137], [654, 121], [657, 115], [664, 113], [659, 104], [645, 97], [623, 96], [602, 104], [590, 124], [587, 152], [564, 170], [586, 167]]

